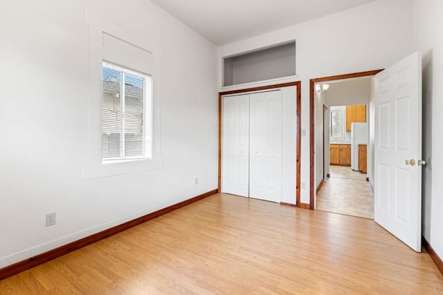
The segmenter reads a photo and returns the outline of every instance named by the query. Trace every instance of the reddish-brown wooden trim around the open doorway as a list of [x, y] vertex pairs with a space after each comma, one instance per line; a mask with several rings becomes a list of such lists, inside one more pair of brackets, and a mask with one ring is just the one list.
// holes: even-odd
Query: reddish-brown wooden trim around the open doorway
[[334, 80], [343, 80], [350, 78], [358, 78], [358, 77], [367, 77], [374, 76], [382, 70], [368, 70], [367, 72], [359, 72], [359, 73], [351, 73], [344, 75], [335, 75], [329, 77], [321, 77], [309, 80], [309, 209], [314, 210], [314, 198], [315, 198], [315, 183], [314, 183], [314, 174], [315, 174], [315, 166], [314, 166], [314, 87], [318, 82], [326, 82], [326, 81], [334, 81]]

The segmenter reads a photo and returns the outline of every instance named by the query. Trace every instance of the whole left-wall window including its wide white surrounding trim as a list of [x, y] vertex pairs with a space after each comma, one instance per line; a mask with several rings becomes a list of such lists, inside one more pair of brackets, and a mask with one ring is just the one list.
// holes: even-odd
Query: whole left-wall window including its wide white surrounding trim
[[[163, 167], [160, 153], [162, 49], [102, 17], [89, 25], [87, 151], [84, 180]], [[154, 100], [155, 97], [155, 100]]]

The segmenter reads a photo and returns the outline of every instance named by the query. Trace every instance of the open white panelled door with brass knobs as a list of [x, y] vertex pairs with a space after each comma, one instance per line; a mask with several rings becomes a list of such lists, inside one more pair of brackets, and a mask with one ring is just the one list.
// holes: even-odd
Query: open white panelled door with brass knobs
[[374, 220], [415, 251], [422, 232], [422, 57], [375, 76]]

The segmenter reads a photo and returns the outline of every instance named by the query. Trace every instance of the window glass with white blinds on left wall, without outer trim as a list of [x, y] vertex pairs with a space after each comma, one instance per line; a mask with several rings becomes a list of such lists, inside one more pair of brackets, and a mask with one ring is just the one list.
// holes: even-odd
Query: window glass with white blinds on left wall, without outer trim
[[102, 64], [102, 161], [152, 159], [152, 78]]

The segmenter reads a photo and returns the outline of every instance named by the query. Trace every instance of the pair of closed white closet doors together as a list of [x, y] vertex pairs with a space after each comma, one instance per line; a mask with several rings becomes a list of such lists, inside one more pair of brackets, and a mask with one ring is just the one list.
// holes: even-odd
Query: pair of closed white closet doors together
[[223, 97], [223, 193], [281, 201], [282, 108], [282, 89]]

